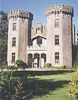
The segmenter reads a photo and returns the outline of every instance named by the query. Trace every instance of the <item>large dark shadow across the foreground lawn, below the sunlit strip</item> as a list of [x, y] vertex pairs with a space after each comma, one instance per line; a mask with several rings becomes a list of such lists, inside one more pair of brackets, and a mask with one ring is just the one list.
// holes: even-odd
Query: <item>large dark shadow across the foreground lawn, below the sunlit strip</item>
[[25, 91], [22, 96], [25, 96], [25, 100], [31, 100], [35, 96], [44, 96], [50, 94], [50, 91], [63, 88], [65, 84], [68, 84], [69, 81], [53, 81], [53, 80], [38, 80], [38, 79], [29, 79], [26, 84], [24, 84], [21, 91]]

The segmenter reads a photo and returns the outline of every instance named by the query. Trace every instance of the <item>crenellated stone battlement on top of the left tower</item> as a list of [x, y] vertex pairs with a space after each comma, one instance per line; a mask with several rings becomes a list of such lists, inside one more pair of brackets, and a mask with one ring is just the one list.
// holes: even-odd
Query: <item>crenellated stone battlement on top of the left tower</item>
[[8, 13], [8, 19], [10, 18], [27, 18], [30, 20], [33, 20], [33, 14], [27, 11], [21, 11], [21, 10], [12, 10]]

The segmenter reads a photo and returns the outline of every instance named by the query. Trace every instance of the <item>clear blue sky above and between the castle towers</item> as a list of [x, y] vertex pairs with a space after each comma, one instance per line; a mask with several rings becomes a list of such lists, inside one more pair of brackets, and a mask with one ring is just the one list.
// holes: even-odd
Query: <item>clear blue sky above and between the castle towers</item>
[[41, 22], [46, 26], [46, 9], [51, 5], [66, 4], [74, 9], [73, 24], [78, 30], [78, 0], [0, 0], [0, 9], [4, 12], [25, 10], [33, 14], [32, 25]]

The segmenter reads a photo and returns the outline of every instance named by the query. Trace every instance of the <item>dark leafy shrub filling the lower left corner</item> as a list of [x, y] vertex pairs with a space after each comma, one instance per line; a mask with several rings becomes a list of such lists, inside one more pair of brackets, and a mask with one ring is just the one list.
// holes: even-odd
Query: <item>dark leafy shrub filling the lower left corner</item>
[[22, 88], [27, 80], [25, 77], [14, 77], [13, 71], [1, 72], [1, 99], [2, 100], [23, 100], [21, 98]]

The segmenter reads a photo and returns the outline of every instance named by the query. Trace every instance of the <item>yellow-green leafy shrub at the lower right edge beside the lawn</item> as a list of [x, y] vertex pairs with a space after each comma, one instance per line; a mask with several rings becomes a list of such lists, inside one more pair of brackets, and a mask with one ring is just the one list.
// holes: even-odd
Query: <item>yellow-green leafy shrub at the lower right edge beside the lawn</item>
[[78, 71], [75, 72], [69, 84], [70, 84], [70, 89], [68, 90], [69, 96], [76, 97], [78, 100]]

